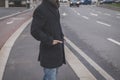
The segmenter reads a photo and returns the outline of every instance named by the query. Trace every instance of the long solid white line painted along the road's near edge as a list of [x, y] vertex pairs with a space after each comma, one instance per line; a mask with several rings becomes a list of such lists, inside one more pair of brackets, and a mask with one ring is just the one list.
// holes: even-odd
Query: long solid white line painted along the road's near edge
[[65, 40], [71, 45], [91, 66], [93, 66], [106, 80], [115, 80], [104, 69], [102, 69], [97, 63], [95, 63], [89, 56], [87, 56], [81, 49], [79, 49], [73, 42], [65, 37]]

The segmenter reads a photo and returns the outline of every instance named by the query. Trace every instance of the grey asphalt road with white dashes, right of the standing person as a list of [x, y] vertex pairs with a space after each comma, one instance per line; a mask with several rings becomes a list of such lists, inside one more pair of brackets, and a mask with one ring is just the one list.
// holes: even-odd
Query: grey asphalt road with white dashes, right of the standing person
[[[60, 13], [65, 36], [115, 80], [120, 80], [120, 12], [94, 5], [78, 8], [61, 4]], [[74, 47], [66, 44], [98, 80], [105, 80]]]

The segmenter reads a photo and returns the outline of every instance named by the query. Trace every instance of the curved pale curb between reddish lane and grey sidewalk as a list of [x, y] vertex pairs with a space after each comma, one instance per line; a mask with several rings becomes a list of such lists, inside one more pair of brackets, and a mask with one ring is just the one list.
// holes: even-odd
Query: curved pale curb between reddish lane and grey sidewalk
[[14, 42], [19, 37], [19, 35], [22, 33], [22, 31], [27, 27], [27, 25], [32, 21], [32, 19], [26, 21], [21, 27], [6, 41], [4, 46], [0, 50], [0, 80], [2, 80], [5, 66], [10, 54], [10, 51], [12, 49], [12, 46], [14, 45]]

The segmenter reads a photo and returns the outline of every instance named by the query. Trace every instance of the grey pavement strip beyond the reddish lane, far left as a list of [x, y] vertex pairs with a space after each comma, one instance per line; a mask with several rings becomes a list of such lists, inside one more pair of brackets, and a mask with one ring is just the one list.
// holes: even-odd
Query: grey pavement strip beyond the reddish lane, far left
[[13, 13], [22, 12], [24, 10], [27, 10], [27, 8], [26, 7], [10, 7], [10, 8], [0, 7], [0, 18], [11, 15]]

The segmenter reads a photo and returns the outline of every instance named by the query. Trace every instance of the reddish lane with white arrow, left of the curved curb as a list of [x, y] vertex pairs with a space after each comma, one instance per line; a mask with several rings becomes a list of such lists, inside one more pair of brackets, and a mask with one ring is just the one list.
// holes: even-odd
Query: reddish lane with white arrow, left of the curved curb
[[23, 22], [32, 16], [32, 10], [0, 20], [0, 49]]

